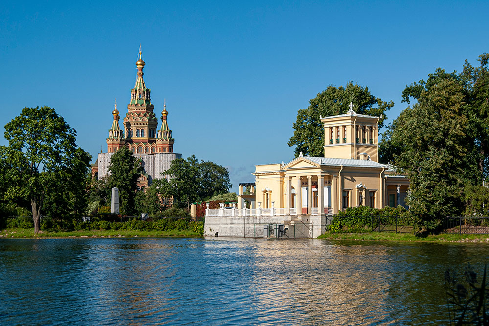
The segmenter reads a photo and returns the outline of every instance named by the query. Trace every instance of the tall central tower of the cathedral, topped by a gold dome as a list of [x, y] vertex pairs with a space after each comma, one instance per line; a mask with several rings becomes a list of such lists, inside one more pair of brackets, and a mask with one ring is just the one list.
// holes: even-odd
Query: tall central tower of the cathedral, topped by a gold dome
[[131, 89], [131, 102], [127, 106], [124, 129], [126, 144], [133, 153], [154, 154], [156, 153], [158, 119], [153, 113], [151, 90], [146, 88], [143, 79], [145, 65], [141, 47], [139, 47], [139, 57], [136, 61], [137, 78], [134, 88]]

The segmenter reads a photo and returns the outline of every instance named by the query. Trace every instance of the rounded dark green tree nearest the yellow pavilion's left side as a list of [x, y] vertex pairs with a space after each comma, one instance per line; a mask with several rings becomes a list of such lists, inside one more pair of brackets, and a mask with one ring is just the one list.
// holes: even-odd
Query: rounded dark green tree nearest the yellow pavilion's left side
[[206, 200], [212, 196], [225, 194], [231, 188], [229, 171], [214, 162], [201, 161], [198, 166], [197, 197]]

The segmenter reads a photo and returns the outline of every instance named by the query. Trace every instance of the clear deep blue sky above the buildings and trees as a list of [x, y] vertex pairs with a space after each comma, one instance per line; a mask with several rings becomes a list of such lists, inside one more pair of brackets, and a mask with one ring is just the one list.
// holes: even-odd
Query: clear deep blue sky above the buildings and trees
[[[127, 112], [142, 44], [174, 151], [230, 171], [288, 162], [298, 109], [353, 80], [395, 106], [437, 67], [489, 51], [488, 1], [2, 1], [0, 124], [54, 107], [95, 156], [107, 150], [114, 99]], [[122, 121], [122, 120], [121, 120]], [[0, 145], [6, 141], [0, 139]]]

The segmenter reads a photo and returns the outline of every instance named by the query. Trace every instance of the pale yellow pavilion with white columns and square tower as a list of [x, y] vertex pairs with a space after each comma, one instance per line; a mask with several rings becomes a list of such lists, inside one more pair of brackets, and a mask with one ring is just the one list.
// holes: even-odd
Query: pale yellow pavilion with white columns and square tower
[[289, 215], [323, 215], [361, 205], [404, 205], [409, 180], [378, 163], [378, 121], [352, 109], [321, 117], [324, 157], [301, 153], [287, 164], [256, 165], [256, 207], [284, 208]]

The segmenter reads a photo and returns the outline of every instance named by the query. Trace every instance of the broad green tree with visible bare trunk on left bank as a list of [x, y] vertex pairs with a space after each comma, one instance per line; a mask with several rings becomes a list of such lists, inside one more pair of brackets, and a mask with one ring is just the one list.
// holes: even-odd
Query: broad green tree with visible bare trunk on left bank
[[[75, 135], [76, 131], [65, 119], [49, 107], [26, 107], [5, 125], [4, 136], [9, 146], [2, 151], [12, 177], [5, 195], [12, 199], [29, 199], [35, 233], [40, 230], [45, 197], [56, 191], [53, 187], [59, 187], [56, 178], [65, 177], [67, 169], [72, 168], [72, 156], [77, 150]], [[66, 180], [65, 185], [70, 181]]]

